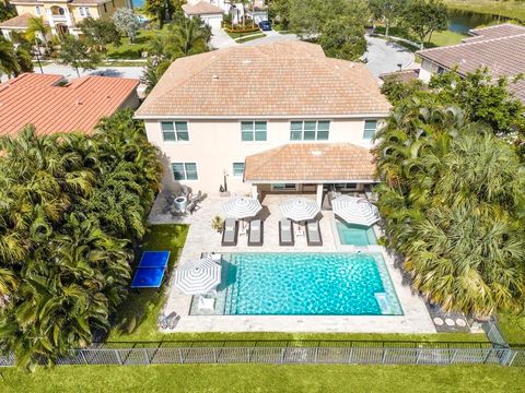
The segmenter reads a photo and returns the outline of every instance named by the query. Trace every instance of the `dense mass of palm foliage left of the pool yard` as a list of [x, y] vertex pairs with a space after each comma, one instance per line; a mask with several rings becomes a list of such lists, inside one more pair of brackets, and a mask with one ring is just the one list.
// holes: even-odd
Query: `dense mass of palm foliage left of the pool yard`
[[31, 368], [108, 327], [161, 167], [130, 110], [92, 136], [27, 126], [0, 150], [0, 345]]

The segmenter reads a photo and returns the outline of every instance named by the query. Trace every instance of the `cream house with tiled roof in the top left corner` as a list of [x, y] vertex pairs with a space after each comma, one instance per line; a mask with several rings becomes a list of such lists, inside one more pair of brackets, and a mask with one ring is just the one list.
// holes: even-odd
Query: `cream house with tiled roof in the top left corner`
[[85, 17], [110, 19], [118, 8], [132, 8], [131, 0], [11, 0], [16, 8], [18, 16], [0, 23], [0, 29], [5, 38], [11, 32], [24, 32], [27, 21], [33, 17], [44, 17], [52, 35], [81, 35], [78, 27]]

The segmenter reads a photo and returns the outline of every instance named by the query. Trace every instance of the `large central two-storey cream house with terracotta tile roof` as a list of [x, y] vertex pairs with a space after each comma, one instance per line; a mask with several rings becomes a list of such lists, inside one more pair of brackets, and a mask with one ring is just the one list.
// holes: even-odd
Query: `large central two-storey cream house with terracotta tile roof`
[[[217, 194], [362, 190], [390, 105], [364, 64], [302, 41], [177, 59], [137, 110], [166, 167], [164, 187]], [[320, 203], [320, 201], [319, 201]]]

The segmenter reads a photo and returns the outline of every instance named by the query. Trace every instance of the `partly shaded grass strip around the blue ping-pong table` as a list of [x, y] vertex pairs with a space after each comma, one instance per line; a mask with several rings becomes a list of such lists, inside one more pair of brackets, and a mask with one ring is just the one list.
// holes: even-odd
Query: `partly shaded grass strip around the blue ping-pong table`
[[[187, 225], [152, 225], [144, 238], [143, 251], [171, 251], [168, 272], [186, 241]], [[163, 286], [165, 290], [166, 283]], [[156, 318], [164, 303], [164, 290], [141, 289], [130, 291], [127, 300], [120, 305], [117, 314], [117, 326], [112, 330], [109, 340], [113, 341], [155, 341], [161, 336], [156, 329]]]

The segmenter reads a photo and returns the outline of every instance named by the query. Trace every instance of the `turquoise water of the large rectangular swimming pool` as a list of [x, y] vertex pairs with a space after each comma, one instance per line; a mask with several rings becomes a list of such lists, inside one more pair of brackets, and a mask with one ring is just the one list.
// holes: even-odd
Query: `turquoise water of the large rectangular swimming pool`
[[381, 254], [232, 253], [223, 258], [224, 314], [402, 314]]

